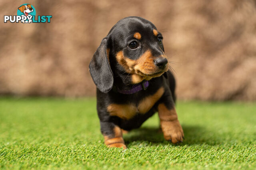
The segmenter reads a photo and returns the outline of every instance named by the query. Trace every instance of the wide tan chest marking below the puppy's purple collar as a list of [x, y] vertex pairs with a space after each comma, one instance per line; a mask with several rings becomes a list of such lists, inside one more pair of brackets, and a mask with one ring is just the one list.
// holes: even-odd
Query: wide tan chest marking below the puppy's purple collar
[[128, 104], [110, 104], [107, 107], [107, 111], [111, 116], [118, 116], [122, 119], [128, 120], [134, 117], [136, 114], [147, 113], [161, 98], [163, 93], [164, 88], [159, 88], [155, 94], [143, 98], [137, 104], [132, 102]]

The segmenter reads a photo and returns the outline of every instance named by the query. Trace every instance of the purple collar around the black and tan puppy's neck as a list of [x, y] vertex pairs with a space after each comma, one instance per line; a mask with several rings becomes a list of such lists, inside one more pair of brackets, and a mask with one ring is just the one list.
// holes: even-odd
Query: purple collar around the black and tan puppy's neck
[[148, 80], [143, 81], [141, 84], [136, 84], [132, 86], [130, 90], [120, 90], [118, 87], [113, 86], [114, 92], [122, 93], [122, 94], [134, 94], [141, 90], [146, 90], [149, 86]]

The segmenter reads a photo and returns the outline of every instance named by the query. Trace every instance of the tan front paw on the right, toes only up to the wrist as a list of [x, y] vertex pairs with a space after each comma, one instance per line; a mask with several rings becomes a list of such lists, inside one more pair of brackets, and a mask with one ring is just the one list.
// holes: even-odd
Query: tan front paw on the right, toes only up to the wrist
[[161, 127], [166, 141], [171, 141], [172, 143], [183, 141], [184, 133], [178, 119], [174, 121], [161, 121]]

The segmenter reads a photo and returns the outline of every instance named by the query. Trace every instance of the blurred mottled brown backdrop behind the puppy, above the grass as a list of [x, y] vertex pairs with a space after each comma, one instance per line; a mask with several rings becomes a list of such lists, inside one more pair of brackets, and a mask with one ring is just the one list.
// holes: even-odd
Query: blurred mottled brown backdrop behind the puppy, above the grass
[[[30, 3], [51, 23], [4, 23]], [[1, 1], [0, 95], [94, 96], [90, 59], [127, 16], [164, 36], [178, 99], [256, 100], [256, 0]]]

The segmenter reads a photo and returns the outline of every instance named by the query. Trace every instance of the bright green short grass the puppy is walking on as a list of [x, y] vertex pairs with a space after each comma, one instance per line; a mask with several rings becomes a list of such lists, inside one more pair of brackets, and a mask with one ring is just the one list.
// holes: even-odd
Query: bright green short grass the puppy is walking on
[[256, 104], [178, 102], [185, 141], [158, 133], [155, 114], [108, 149], [96, 100], [0, 98], [0, 168], [256, 169]]

